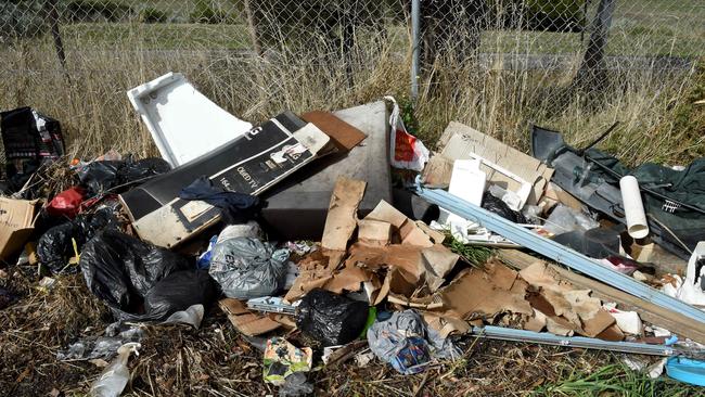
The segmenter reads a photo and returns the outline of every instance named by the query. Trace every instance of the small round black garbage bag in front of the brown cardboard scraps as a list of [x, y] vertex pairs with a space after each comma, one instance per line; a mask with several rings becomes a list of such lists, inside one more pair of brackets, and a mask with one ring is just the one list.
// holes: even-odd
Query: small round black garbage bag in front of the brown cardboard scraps
[[296, 309], [296, 326], [323, 346], [344, 345], [360, 336], [368, 311], [364, 302], [315, 289]]

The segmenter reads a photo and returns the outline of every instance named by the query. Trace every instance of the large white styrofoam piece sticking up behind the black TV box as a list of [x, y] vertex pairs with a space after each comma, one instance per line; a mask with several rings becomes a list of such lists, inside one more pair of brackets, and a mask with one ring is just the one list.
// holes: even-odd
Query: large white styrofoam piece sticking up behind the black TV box
[[231, 142], [252, 124], [231, 115], [198, 92], [180, 73], [169, 72], [127, 91], [152, 139], [171, 167], [187, 164]]

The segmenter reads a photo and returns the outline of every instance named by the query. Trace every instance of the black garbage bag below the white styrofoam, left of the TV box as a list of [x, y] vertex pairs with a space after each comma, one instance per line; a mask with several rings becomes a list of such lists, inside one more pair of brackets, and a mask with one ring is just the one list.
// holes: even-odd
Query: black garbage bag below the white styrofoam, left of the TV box
[[[78, 170], [81, 184], [90, 196], [105, 193], [121, 185], [145, 181], [146, 179], [170, 170], [169, 163], [162, 158], [143, 158], [133, 161], [98, 161], [91, 162]], [[113, 193], [120, 193], [116, 190]]]

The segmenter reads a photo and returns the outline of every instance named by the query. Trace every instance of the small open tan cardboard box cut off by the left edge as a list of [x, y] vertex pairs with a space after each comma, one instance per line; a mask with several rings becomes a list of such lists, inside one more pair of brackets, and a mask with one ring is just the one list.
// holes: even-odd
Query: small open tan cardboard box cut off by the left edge
[[0, 260], [22, 249], [35, 229], [37, 201], [0, 197]]

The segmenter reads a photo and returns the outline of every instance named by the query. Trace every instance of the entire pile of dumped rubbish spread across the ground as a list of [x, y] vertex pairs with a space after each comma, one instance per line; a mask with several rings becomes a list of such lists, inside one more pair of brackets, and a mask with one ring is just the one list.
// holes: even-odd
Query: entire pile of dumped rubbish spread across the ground
[[60, 121], [0, 115], [3, 277], [80, 273], [110, 310], [56, 355], [105, 360], [91, 395], [127, 386], [139, 324], [217, 310], [285, 396], [321, 361], [415, 374], [463, 337], [659, 356], [654, 376], [705, 385], [705, 159], [630, 169], [594, 149], [610, 131], [575, 149], [537, 126], [527, 155], [459, 123], [430, 151], [388, 97], [253, 127], [171, 73], [128, 98], [162, 158], [67, 161]]

